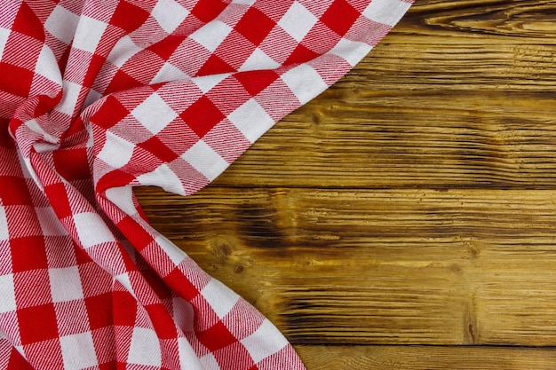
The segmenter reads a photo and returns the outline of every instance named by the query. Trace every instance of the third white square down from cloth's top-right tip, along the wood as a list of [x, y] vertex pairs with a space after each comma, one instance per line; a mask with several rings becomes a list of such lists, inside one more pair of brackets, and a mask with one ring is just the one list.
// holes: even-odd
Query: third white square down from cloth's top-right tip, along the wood
[[328, 88], [313, 67], [306, 64], [291, 68], [281, 78], [302, 105]]

